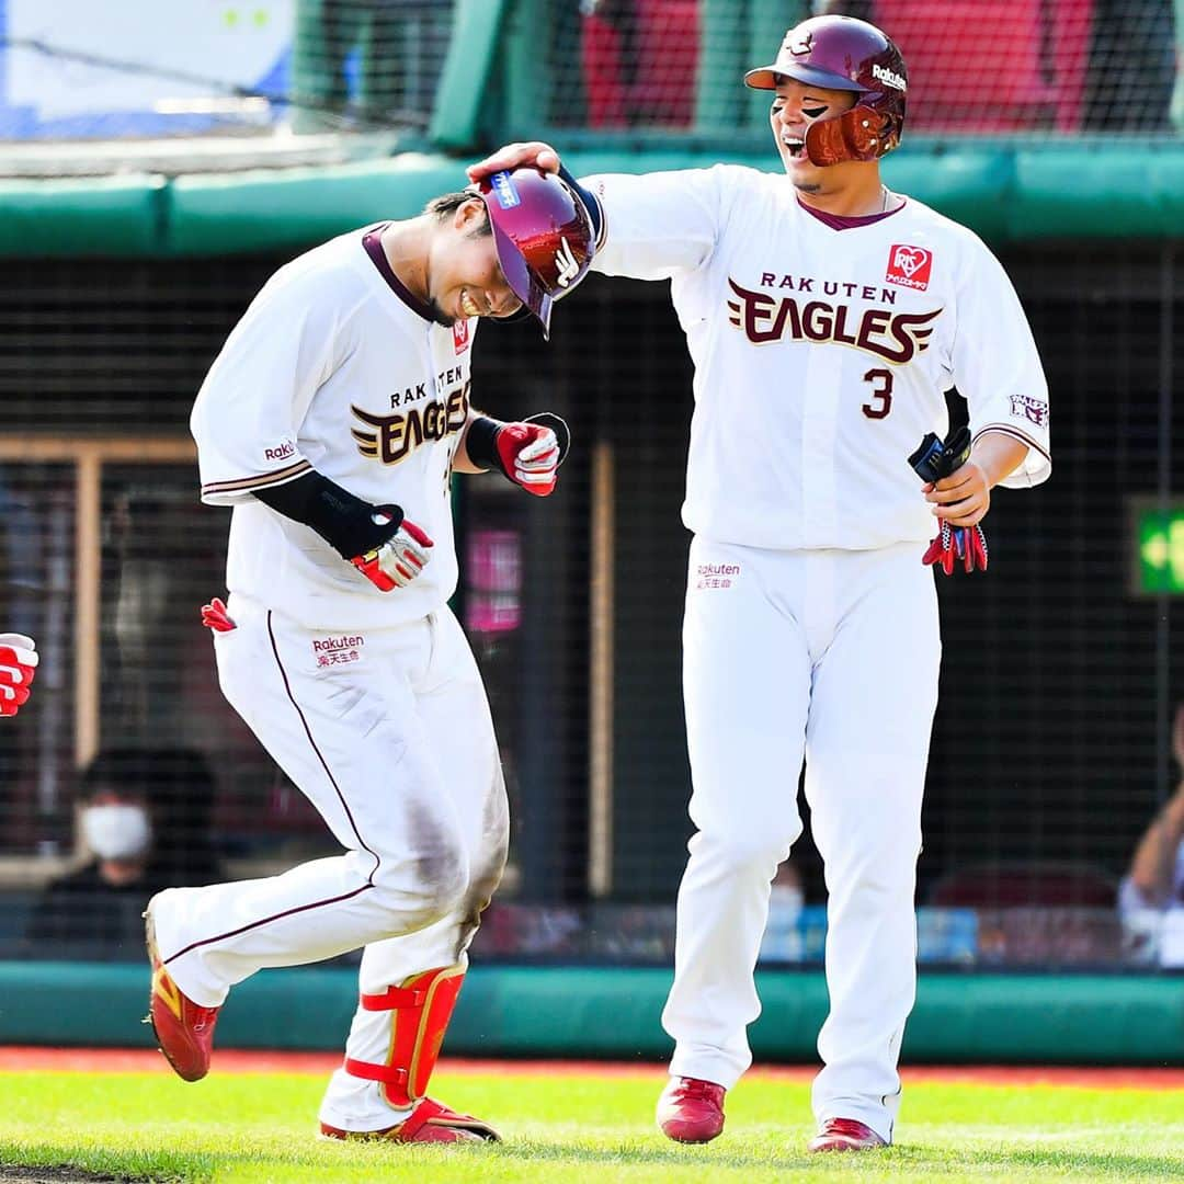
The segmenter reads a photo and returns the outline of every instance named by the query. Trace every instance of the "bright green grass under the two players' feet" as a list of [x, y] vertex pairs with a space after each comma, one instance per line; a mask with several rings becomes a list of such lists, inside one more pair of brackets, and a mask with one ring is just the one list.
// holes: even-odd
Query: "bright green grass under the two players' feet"
[[[219, 1075], [215, 1066], [185, 1085], [161, 1073], [2, 1073], [0, 1164], [117, 1179], [359, 1184], [1184, 1179], [1184, 1090], [906, 1077], [897, 1145], [856, 1157], [806, 1156], [809, 1087], [759, 1075], [729, 1095], [721, 1138], [677, 1146], [652, 1125], [662, 1081], [659, 1069], [652, 1081], [440, 1072], [433, 1095], [494, 1122], [506, 1143], [408, 1148], [315, 1138], [323, 1077], [314, 1075]], [[0, 1182], [11, 1178], [0, 1167]]]

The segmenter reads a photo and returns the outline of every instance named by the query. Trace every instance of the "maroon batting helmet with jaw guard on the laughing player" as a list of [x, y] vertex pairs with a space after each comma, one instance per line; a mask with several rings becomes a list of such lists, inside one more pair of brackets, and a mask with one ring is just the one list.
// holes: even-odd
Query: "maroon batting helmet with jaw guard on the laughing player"
[[776, 90], [778, 78], [858, 96], [849, 111], [806, 129], [812, 163], [875, 160], [900, 143], [908, 71], [900, 50], [875, 25], [854, 17], [802, 21], [785, 34], [777, 60], [749, 70], [744, 81], [755, 90]]

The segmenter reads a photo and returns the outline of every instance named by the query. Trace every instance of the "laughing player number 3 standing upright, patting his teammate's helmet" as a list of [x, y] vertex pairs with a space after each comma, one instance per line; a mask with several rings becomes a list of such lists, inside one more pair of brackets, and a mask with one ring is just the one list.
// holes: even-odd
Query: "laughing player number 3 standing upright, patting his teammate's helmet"
[[[658, 1122], [671, 1139], [715, 1138], [751, 1063], [752, 972], [770, 881], [802, 831], [804, 759], [830, 895], [810, 1147], [862, 1150], [892, 1141], [915, 989], [940, 651], [922, 560], [985, 565], [976, 528], [991, 490], [1048, 476], [1048, 395], [996, 259], [881, 179], [905, 122], [896, 46], [864, 21], [813, 18], [746, 82], [771, 92], [785, 175], [716, 166], [579, 182], [598, 224], [593, 266], [669, 279], [695, 363], [683, 690], [697, 831]], [[470, 176], [527, 162], [559, 167], [546, 144], [513, 144]], [[973, 448], [938, 440], [922, 483], [907, 462], [919, 438], [946, 435], [952, 386]], [[928, 547], [935, 530], [945, 545]]]

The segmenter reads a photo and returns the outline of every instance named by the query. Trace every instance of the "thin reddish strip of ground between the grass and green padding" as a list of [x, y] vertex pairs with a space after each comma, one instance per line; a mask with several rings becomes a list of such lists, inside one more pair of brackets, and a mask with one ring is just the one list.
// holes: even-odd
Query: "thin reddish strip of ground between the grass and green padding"
[[[341, 1064], [339, 1053], [255, 1051], [221, 1049], [215, 1056], [219, 1073], [307, 1073], [323, 1076]], [[483, 1073], [558, 1077], [574, 1073], [601, 1076], [654, 1077], [663, 1066], [623, 1061], [482, 1061], [442, 1057], [442, 1073]], [[0, 1072], [56, 1073], [168, 1073], [163, 1057], [154, 1049], [118, 1048], [0, 1048]], [[765, 1066], [749, 1076], [765, 1080], [809, 1081], [811, 1066]], [[1128, 1068], [1077, 1066], [903, 1066], [906, 1081], [947, 1081], [976, 1086], [1076, 1086], [1087, 1089], [1180, 1089], [1184, 1068]]]

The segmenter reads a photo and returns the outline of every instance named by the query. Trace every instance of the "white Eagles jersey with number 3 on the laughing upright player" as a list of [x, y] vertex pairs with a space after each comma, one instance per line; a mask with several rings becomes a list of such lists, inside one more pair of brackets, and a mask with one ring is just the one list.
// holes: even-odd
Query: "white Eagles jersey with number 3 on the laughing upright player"
[[1029, 445], [1003, 484], [1049, 474], [1048, 390], [1015, 290], [969, 230], [906, 199], [837, 230], [784, 175], [605, 175], [605, 275], [671, 281], [695, 363], [683, 521], [752, 547], [849, 548], [935, 534], [907, 464], [945, 437], [957, 386], [971, 431]]

